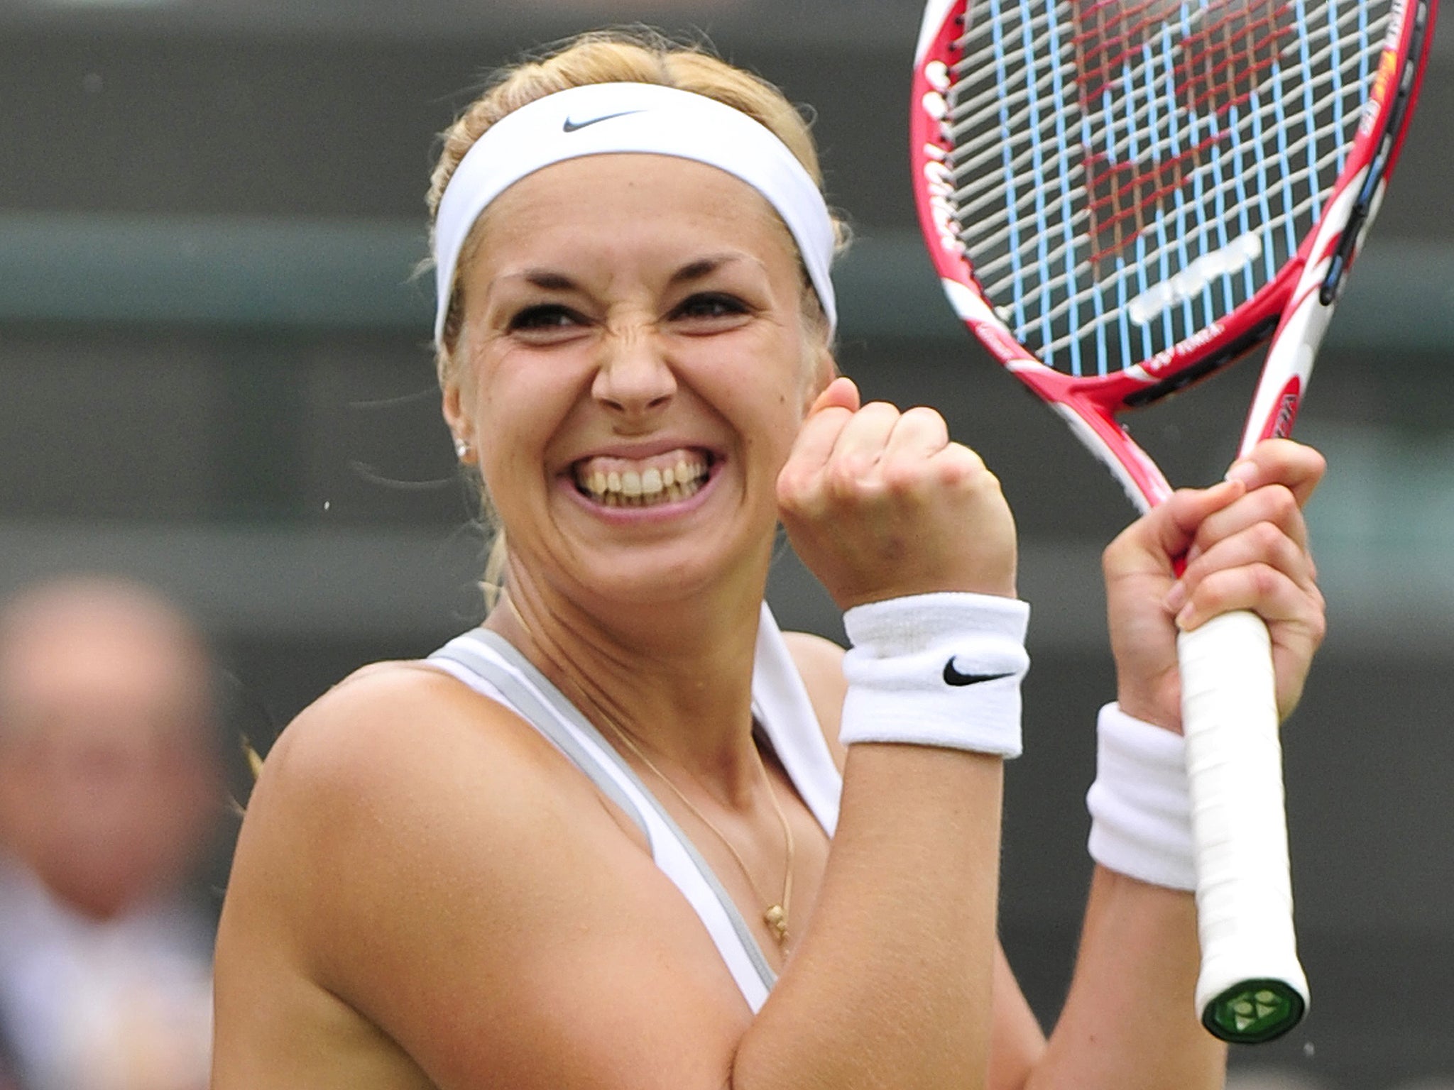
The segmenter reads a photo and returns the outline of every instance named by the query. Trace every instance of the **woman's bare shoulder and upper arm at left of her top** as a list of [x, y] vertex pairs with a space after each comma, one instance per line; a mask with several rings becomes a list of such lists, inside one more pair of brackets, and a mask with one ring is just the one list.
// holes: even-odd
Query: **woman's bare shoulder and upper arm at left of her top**
[[284, 731], [253, 792], [214, 1086], [643, 1086], [602, 1075], [640, 1054], [622, 1039], [683, 1035], [694, 1070], [653, 1084], [718, 1078], [740, 997], [678, 901], [644, 836], [513, 712], [372, 667]]

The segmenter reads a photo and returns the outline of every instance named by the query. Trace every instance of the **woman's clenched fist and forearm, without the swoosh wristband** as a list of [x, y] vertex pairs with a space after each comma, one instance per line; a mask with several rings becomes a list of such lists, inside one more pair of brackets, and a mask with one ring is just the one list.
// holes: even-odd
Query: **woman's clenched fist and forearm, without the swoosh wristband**
[[[778, 491], [798, 555], [845, 610], [1015, 594], [999, 483], [929, 410], [861, 407], [838, 379]], [[989, 753], [849, 746], [817, 907], [743, 1036], [733, 1086], [986, 1086], [1002, 773]]]

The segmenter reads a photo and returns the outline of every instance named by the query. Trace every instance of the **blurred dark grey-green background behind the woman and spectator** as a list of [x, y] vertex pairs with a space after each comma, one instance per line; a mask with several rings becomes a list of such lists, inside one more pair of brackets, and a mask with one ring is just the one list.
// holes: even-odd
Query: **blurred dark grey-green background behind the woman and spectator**
[[[1112, 695], [1109, 477], [949, 315], [906, 170], [917, 0], [0, 0], [0, 599], [47, 574], [156, 586], [266, 732], [353, 667], [480, 618], [483, 539], [439, 420], [423, 192], [435, 134], [521, 49], [603, 23], [707, 33], [810, 105], [858, 241], [842, 368], [932, 404], [1019, 517], [1027, 756], [1003, 936], [1053, 1020], [1089, 878], [1082, 796]], [[1454, 35], [1319, 360], [1300, 437], [1330, 634], [1285, 731], [1303, 1026], [1246, 1090], [1454, 1086]], [[1173, 481], [1230, 461], [1246, 363], [1136, 424]], [[785, 626], [839, 635], [784, 555]], [[225, 876], [202, 879], [212, 910]], [[1441, 1081], [1448, 1080], [1448, 1081]]]

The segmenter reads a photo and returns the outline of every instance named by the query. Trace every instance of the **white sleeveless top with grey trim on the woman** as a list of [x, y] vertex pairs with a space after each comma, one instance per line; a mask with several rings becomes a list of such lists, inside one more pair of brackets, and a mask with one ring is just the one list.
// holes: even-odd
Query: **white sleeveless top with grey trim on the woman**
[[[696, 910], [743, 998], [758, 1012], [776, 977], [756, 939], [692, 841], [590, 721], [510, 642], [487, 629], [451, 639], [426, 661], [535, 727], [635, 821], [656, 865]], [[752, 712], [803, 802], [833, 836], [842, 779], [766, 603], [758, 628]]]

